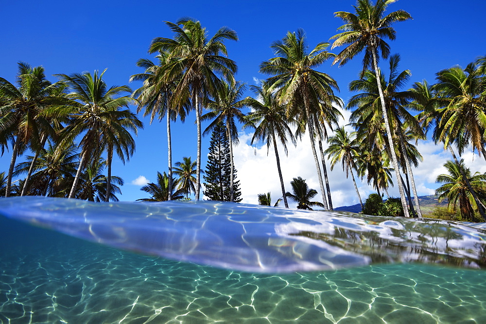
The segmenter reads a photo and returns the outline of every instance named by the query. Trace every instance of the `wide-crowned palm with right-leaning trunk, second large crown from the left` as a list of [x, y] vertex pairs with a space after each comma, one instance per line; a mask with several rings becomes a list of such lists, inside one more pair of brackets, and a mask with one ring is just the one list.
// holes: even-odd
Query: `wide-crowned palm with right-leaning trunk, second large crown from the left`
[[[79, 143], [81, 158], [69, 198], [73, 198], [76, 193], [79, 177], [89, 157], [96, 159], [107, 146], [114, 146], [124, 161], [123, 154], [128, 157], [135, 148], [133, 138], [126, 128], [136, 131], [137, 127], [142, 127], [135, 114], [128, 109], [120, 110], [121, 107], [128, 107], [133, 99], [129, 96], [115, 97], [131, 93], [131, 89], [127, 85], [108, 88], [102, 79], [105, 71], [106, 69], [100, 75], [95, 71], [93, 76], [89, 72], [70, 76], [58, 75], [71, 90], [68, 97], [75, 100], [70, 107], [61, 110], [61, 113], [70, 115], [70, 123], [63, 130], [64, 140], [72, 142], [74, 137], [85, 133]], [[59, 112], [54, 110], [52, 113]], [[108, 163], [111, 163], [109, 151]], [[109, 188], [110, 185], [107, 184], [107, 189]]]

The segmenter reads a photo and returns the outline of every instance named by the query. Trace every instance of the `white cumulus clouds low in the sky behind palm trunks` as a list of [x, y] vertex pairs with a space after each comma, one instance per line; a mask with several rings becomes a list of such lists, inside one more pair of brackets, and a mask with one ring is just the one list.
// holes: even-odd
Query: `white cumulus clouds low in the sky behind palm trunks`
[[[257, 204], [257, 195], [267, 192], [271, 192], [272, 201], [277, 201], [282, 196], [282, 190], [278, 178], [274, 148], [271, 146], [267, 155], [266, 145], [262, 145], [261, 143], [257, 146], [250, 145], [252, 136], [253, 133], [240, 134], [240, 144], [233, 150], [243, 202]], [[316, 201], [322, 201], [309, 134], [306, 133], [302, 136], [302, 141], [297, 142], [297, 147], [291, 143], [287, 147], [289, 152], [288, 156], [285, 155], [283, 146], [278, 144], [278, 154], [285, 190], [291, 191], [290, 181], [292, 178], [300, 176], [306, 179], [310, 188], [317, 190], [318, 194], [314, 199]], [[326, 143], [323, 143], [323, 148], [327, 148]], [[435, 183], [435, 178], [439, 174], [447, 173], [443, 164], [452, 159], [451, 154], [449, 151], [445, 151], [442, 146], [435, 145], [432, 141], [422, 141], [417, 145], [417, 148], [424, 159], [423, 162], [419, 163], [417, 168], [413, 168], [417, 194], [434, 194], [435, 189], [439, 186], [439, 184]], [[316, 149], [319, 155], [317, 145]], [[472, 152], [466, 152], [463, 154], [463, 158], [472, 173], [476, 171], [486, 172], [486, 162], [482, 157], [480, 158]], [[333, 207], [359, 204], [351, 175], [349, 174], [349, 178], [346, 178], [346, 174], [342, 170], [340, 163], [336, 164], [331, 171], [327, 157], [326, 166]], [[396, 183], [395, 174], [392, 177]], [[369, 194], [375, 192], [366, 183], [366, 179], [362, 181], [360, 178], [356, 178], [356, 184], [363, 201]], [[395, 197], [399, 196], [397, 185], [389, 188], [388, 194]], [[291, 204], [290, 201], [289, 204]], [[283, 202], [281, 202], [281, 206], [283, 206]], [[291, 204], [291, 207], [295, 208], [295, 206], [295, 204]]]

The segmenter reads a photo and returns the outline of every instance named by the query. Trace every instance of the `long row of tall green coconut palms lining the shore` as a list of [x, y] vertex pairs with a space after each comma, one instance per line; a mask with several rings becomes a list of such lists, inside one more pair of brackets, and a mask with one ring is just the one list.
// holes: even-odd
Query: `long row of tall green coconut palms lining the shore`
[[[184, 121], [194, 111], [195, 200], [199, 200], [201, 189], [201, 121], [210, 120], [204, 134], [223, 125], [228, 140], [230, 201], [237, 199], [232, 150], [238, 144], [238, 125], [243, 125], [243, 129], [254, 130], [252, 144], [261, 141], [268, 149], [273, 146], [285, 207], [288, 195], [277, 143], [286, 152], [287, 143], [295, 145], [307, 132], [325, 209], [332, 210], [327, 155], [331, 169], [341, 162], [346, 174], [351, 173], [358, 195], [353, 170], [357, 177], [366, 178], [379, 195], [395, 181], [404, 215], [421, 217], [412, 172], [412, 165], [417, 166], [421, 155], [412, 142], [425, 139], [429, 132], [435, 143], [442, 143], [451, 152], [452, 163], [467, 188], [461, 196], [463, 205], [469, 203], [470, 210], [478, 211], [484, 219], [485, 196], [477, 187], [474, 190], [467, 168], [459, 167], [461, 161], [454, 148], [459, 157], [469, 146], [486, 159], [486, 59], [479, 57], [464, 69], [454, 66], [439, 71], [435, 84], [422, 81], [411, 89], [402, 89], [410, 81], [411, 72], [400, 71], [400, 57], [391, 55], [386, 40], [396, 38], [393, 24], [411, 19], [411, 15], [403, 10], [385, 15], [392, 2], [358, 0], [354, 12], [336, 12], [344, 25], [330, 37], [332, 45], [320, 42], [309, 47], [301, 29], [272, 43], [275, 57], [260, 64], [260, 72], [268, 79], [249, 87], [255, 97], [243, 98], [246, 86], [235, 79], [237, 64], [226, 50], [225, 42], [238, 40], [237, 33], [223, 27], [208, 37], [201, 23], [191, 18], [166, 22], [172, 38], [157, 37], [151, 42], [148, 52], [156, 54], [155, 62], [137, 62], [144, 71], [130, 78], [142, 82], [135, 91], [126, 85], [108, 87], [102, 79], [104, 72], [59, 74], [59, 81], [51, 84], [42, 67], [20, 63], [16, 84], [0, 78], [2, 154], [12, 148], [10, 168], [2, 184], [5, 196], [12, 194], [12, 176], [16, 172], [27, 174], [18, 190], [20, 195], [86, 199], [79, 188], [89, 177], [102, 177], [100, 172], [106, 167], [107, 176], [100, 178], [105, 189], [98, 199], [115, 200], [122, 179], [111, 176], [113, 154], [122, 162], [128, 160], [135, 150], [131, 132], [143, 128], [137, 115], [128, 109], [135, 104], [137, 113], [150, 115], [151, 122], [167, 120], [168, 173], [165, 177], [159, 174], [160, 181], [167, 182], [167, 200], [174, 199], [174, 189], [180, 187], [173, 175], [171, 122]], [[334, 54], [327, 50], [330, 45], [331, 49], [344, 49]], [[349, 83], [349, 90], [357, 94], [345, 105], [335, 94], [339, 91], [337, 82], [317, 69], [327, 61], [344, 65], [362, 53], [359, 79]], [[381, 60], [385, 60], [387, 69], [379, 67]], [[242, 113], [243, 107], [251, 108], [251, 113]], [[339, 109], [343, 107], [352, 110], [349, 126], [355, 131], [339, 128]], [[203, 114], [203, 108], [209, 112]], [[326, 150], [324, 141], [329, 143]], [[16, 165], [17, 156], [27, 149], [34, 154], [27, 159], [30, 165]], [[185, 188], [183, 195], [188, 196]], [[175, 194], [178, 196], [180, 193]]]

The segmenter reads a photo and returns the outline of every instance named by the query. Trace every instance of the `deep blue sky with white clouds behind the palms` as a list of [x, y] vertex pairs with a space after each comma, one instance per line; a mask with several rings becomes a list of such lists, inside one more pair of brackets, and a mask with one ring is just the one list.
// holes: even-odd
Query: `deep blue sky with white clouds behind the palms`
[[[222, 26], [238, 33], [238, 42], [227, 42], [228, 56], [239, 67], [236, 78], [248, 84], [266, 76], [258, 73], [259, 64], [273, 57], [270, 44], [303, 28], [309, 45], [336, 34], [342, 25], [335, 18], [336, 11], [353, 11], [354, 0], [321, 1], [4, 1], [2, 24], [6, 26], [0, 46], [0, 76], [14, 81], [17, 62], [43, 65], [51, 81], [53, 74], [104, 70], [109, 85], [128, 84], [131, 75], [142, 72], [135, 65], [139, 58], [151, 58], [148, 46], [155, 37], [172, 37], [164, 24], [190, 16], [199, 21], [211, 36]], [[486, 1], [484, 0], [399, 0], [388, 12], [403, 9], [413, 20], [395, 25], [397, 40], [391, 41], [391, 52], [401, 55], [400, 70], [410, 69], [411, 82], [428, 80], [434, 83], [435, 73], [453, 65], [466, 66], [477, 56], [486, 54], [484, 37]], [[337, 53], [334, 49], [332, 52]], [[349, 81], [355, 80], [361, 66], [361, 56], [344, 67], [330, 62], [319, 70], [329, 73], [339, 84], [337, 95], [345, 103], [353, 94], [347, 91]], [[386, 65], [382, 62], [382, 68]], [[138, 88], [139, 83], [129, 84]], [[248, 92], [248, 95], [250, 93]], [[135, 110], [135, 107], [132, 107]], [[244, 111], [248, 112], [247, 110]], [[348, 115], [349, 112], [345, 112]], [[140, 118], [142, 119], [141, 115]], [[173, 162], [182, 157], [196, 157], [196, 128], [192, 113], [185, 124], [173, 125]], [[156, 180], [156, 172], [167, 170], [167, 137], [165, 121], [143, 118], [145, 129], [139, 131], [137, 150], [125, 165], [114, 162], [113, 174], [125, 180], [120, 200], [131, 201], [146, 197], [140, 185], [132, 181], [142, 176]], [[344, 123], [344, 122], [343, 122]], [[203, 125], [204, 127], [204, 125]], [[256, 195], [271, 191], [278, 197], [278, 175], [275, 158], [266, 155], [266, 147], [249, 146], [251, 133], [241, 133], [241, 144], [235, 148], [238, 178], [241, 180], [243, 201], [256, 203]], [[203, 138], [203, 162], [206, 165], [209, 137]], [[419, 194], [431, 194], [437, 187], [434, 177], [443, 173], [442, 164], [449, 159], [442, 147], [429, 142], [419, 144], [424, 162], [416, 173]], [[486, 172], [484, 159], [469, 152], [466, 162], [472, 171]], [[0, 170], [8, 170], [8, 153], [0, 158]], [[282, 168], [286, 184], [294, 177], [308, 180], [318, 189], [315, 166], [309, 146], [299, 143], [283, 158]], [[329, 167], [329, 165], [328, 165]], [[290, 187], [290, 186], [288, 186]], [[330, 175], [334, 206], [357, 203], [354, 187], [338, 166]], [[288, 190], [288, 189], [287, 189]], [[360, 186], [362, 196], [371, 189]], [[390, 194], [397, 195], [394, 188]], [[319, 195], [320, 196], [320, 195]]]

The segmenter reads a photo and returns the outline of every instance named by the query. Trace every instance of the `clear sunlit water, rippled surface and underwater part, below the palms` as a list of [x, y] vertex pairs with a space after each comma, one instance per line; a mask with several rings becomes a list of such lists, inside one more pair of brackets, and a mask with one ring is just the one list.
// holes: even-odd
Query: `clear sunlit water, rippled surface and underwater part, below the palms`
[[33, 197], [0, 214], [1, 323], [486, 323], [466, 226]]

